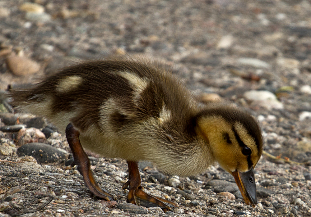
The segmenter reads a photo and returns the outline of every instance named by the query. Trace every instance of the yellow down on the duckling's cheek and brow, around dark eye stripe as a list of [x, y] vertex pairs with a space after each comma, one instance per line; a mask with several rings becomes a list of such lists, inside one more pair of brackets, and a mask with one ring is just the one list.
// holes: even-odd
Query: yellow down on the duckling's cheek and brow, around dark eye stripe
[[252, 162], [257, 163], [258, 150], [254, 139], [239, 122], [232, 125], [221, 116], [207, 116], [198, 121], [197, 133], [208, 141], [213, 156], [223, 169], [228, 172], [235, 170], [245, 172], [248, 171], [247, 156], [242, 153], [242, 147], [235, 137], [233, 127], [242, 142], [251, 148]]

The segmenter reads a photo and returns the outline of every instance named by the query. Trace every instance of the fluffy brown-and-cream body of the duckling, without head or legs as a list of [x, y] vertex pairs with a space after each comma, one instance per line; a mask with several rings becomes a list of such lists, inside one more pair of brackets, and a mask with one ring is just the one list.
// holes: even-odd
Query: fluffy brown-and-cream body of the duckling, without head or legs
[[[179, 175], [200, 172], [214, 162], [205, 142], [196, 138], [193, 117], [199, 104], [160, 64], [120, 59], [81, 63], [33, 88], [15, 90], [12, 97], [15, 105], [46, 117], [61, 132], [71, 122], [82, 146], [105, 157], [150, 160]], [[195, 163], [193, 154], [203, 160]]]

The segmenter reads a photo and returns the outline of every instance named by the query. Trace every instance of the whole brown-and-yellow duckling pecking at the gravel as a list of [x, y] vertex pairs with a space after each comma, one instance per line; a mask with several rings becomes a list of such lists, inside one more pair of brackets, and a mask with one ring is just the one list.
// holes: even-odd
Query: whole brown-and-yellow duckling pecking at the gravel
[[216, 162], [234, 176], [246, 204], [257, 204], [254, 167], [262, 155], [258, 122], [229, 103], [202, 104], [168, 67], [115, 57], [64, 68], [33, 88], [13, 90], [13, 104], [46, 117], [66, 134], [86, 186], [107, 201], [83, 148], [127, 160], [128, 202], [178, 206], [147, 194], [139, 160], [169, 175], [190, 176]]

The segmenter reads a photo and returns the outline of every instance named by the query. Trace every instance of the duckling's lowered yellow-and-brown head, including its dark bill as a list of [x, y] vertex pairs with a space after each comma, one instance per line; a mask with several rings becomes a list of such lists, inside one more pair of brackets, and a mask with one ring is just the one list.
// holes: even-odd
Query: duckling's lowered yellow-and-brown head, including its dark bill
[[246, 204], [257, 204], [254, 167], [262, 155], [258, 121], [232, 105], [214, 105], [197, 120], [197, 133], [219, 165], [234, 176]]

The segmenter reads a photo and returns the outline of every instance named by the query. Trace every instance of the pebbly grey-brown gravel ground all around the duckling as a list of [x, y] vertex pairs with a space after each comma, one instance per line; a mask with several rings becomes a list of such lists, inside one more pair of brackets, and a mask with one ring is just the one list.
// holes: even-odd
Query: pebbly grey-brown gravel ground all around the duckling
[[[43, 195], [53, 200], [23, 216], [311, 216], [310, 0], [32, 3], [0, 1], [0, 216]], [[217, 166], [168, 177], [148, 162], [140, 163], [146, 191], [180, 207], [163, 213], [143, 201], [132, 206], [121, 190], [126, 162], [89, 153], [97, 182], [118, 198], [99, 200], [66, 167], [70, 149], [57, 129], [10, 113], [8, 85], [28, 86], [72, 62], [123, 53], [165, 61], [202, 101], [216, 97], [253, 111], [266, 144], [255, 168], [255, 208]]]

